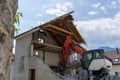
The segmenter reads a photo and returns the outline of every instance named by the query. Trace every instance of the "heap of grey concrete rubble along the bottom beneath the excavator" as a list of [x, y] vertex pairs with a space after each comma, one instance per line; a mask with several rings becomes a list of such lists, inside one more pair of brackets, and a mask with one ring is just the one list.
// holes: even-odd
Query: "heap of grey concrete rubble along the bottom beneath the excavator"
[[111, 76], [111, 75], [106, 75], [105, 77], [101, 78], [101, 79], [88, 79], [88, 75], [87, 75], [87, 71], [85, 70], [79, 70], [79, 75], [65, 75], [62, 76], [59, 73], [54, 73], [56, 75], [55, 80], [120, 80], [119, 76]]

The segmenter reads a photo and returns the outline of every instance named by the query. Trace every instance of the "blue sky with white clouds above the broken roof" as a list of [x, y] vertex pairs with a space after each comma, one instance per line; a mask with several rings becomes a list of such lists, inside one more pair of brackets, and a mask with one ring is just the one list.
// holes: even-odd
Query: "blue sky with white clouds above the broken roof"
[[120, 0], [19, 0], [18, 34], [71, 11], [88, 49], [120, 47]]

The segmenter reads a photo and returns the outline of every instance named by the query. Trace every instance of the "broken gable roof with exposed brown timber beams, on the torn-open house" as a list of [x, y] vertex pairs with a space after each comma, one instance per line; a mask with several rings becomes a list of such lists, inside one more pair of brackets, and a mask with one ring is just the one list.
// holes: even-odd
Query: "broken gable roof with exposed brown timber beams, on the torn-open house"
[[71, 13], [64, 14], [56, 19], [53, 19], [47, 23], [39, 25], [36, 28], [33, 28], [27, 32], [24, 32], [15, 37], [15, 39], [19, 39], [27, 34], [33, 33], [38, 30], [46, 30], [51, 37], [59, 43], [60, 46], [63, 45], [66, 35], [70, 35], [71, 38], [77, 43], [86, 44], [83, 37], [79, 34], [76, 29], [76, 26], [73, 24], [73, 17]]

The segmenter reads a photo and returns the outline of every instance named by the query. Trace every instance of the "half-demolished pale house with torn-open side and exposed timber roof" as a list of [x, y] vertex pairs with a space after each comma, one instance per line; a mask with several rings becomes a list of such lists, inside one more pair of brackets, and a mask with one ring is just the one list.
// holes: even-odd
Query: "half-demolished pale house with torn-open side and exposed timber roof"
[[66, 36], [77, 43], [85, 41], [73, 24], [72, 12], [15, 37], [15, 60], [10, 80], [54, 80], [59, 72]]

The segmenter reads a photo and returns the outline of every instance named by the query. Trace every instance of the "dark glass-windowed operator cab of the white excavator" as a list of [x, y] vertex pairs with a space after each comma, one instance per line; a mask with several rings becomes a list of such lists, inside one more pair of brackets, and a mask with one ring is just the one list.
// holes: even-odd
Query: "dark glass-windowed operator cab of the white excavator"
[[89, 70], [91, 62], [95, 59], [103, 59], [103, 54], [103, 49], [96, 49], [84, 52], [81, 59], [82, 68]]

